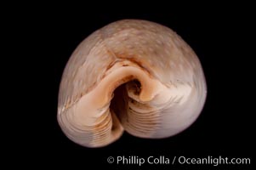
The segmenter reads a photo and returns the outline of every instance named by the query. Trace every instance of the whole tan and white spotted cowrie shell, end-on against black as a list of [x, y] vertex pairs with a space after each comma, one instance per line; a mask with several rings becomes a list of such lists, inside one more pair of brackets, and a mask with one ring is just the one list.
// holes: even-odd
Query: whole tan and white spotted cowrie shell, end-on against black
[[94, 31], [71, 54], [60, 82], [58, 122], [86, 147], [124, 131], [168, 138], [196, 121], [207, 86], [190, 46], [146, 20], [119, 20]]

